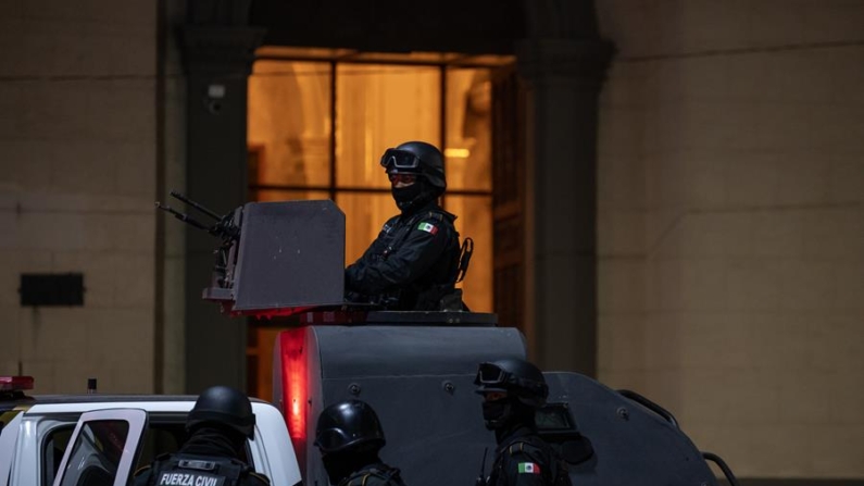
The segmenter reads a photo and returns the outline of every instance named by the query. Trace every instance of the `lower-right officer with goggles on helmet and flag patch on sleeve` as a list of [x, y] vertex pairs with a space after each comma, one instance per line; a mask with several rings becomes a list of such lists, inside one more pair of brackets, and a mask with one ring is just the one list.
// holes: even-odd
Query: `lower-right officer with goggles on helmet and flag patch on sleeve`
[[566, 463], [537, 433], [535, 415], [549, 396], [540, 370], [515, 358], [480, 363], [474, 384], [498, 443], [487, 486], [569, 486]]

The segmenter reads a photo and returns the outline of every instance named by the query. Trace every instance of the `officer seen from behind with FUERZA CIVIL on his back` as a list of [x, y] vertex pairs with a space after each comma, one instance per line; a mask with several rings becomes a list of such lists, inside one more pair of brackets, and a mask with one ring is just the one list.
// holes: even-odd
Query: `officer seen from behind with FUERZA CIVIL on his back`
[[227, 386], [208, 388], [186, 419], [190, 434], [186, 443], [177, 452], [159, 456], [151, 465], [138, 470], [135, 484], [270, 485], [266, 476], [241, 460], [254, 427], [252, 404], [242, 391]]

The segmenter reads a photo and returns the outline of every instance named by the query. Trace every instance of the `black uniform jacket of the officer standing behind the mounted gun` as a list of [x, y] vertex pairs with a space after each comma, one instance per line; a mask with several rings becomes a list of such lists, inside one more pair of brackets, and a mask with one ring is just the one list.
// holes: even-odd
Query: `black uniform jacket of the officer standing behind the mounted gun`
[[459, 266], [456, 216], [434, 201], [391, 217], [365, 253], [346, 269], [346, 290], [397, 310], [436, 310]]

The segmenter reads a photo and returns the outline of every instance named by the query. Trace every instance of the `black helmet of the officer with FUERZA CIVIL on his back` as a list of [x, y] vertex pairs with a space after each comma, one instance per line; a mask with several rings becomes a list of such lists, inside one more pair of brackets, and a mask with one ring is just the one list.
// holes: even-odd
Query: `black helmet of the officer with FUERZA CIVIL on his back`
[[225, 425], [251, 438], [255, 431], [255, 415], [247, 396], [228, 386], [213, 386], [198, 396], [186, 419], [186, 429], [204, 424]]

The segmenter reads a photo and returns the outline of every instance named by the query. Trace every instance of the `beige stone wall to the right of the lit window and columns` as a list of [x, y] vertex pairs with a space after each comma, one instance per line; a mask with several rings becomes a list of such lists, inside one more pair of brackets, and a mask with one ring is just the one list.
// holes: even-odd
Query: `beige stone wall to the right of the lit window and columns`
[[598, 13], [600, 379], [739, 477], [864, 477], [864, 3]]

